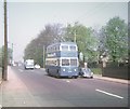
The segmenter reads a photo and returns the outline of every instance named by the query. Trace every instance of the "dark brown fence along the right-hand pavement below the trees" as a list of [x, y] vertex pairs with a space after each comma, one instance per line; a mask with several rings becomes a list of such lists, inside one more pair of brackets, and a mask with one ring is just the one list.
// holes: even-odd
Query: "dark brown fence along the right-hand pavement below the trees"
[[93, 69], [94, 73], [102, 74], [103, 77], [130, 80], [128, 72], [128, 67], [130, 68], [130, 66], [128, 66], [128, 63], [107, 63], [105, 68], [102, 66], [102, 63], [88, 63], [88, 67]]

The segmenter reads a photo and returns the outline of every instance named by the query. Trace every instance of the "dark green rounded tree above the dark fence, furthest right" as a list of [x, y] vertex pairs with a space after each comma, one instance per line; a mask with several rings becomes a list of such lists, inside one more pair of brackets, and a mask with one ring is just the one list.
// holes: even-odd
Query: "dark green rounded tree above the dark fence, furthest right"
[[119, 17], [109, 19], [104, 28], [106, 47], [113, 62], [128, 57], [127, 24]]

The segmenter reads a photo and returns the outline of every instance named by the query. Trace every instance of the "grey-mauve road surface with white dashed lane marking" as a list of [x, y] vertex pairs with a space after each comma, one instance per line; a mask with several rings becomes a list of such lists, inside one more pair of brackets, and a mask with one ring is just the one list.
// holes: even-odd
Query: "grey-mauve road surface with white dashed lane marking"
[[128, 85], [99, 79], [56, 79], [42, 69], [12, 68], [41, 107], [128, 107]]

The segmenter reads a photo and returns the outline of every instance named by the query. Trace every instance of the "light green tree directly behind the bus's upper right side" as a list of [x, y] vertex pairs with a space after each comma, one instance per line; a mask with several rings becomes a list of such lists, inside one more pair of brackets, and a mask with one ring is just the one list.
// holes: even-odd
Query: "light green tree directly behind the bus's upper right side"
[[83, 53], [86, 62], [95, 62], [98, 58], [98, 40], [94, 37], [93, 29], [75, 23], [75, 25], [68, 24], [65, 32], [66, 41], [75, 41], [78, 45], [79, 53]]

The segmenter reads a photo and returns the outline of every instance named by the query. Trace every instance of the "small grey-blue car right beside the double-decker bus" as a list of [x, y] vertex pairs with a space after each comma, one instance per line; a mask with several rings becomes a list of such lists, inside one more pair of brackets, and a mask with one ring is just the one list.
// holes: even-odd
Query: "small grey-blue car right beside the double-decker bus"
[[79, 68], [79, 77], [93, 78], [93, 72], [89, 68]]

